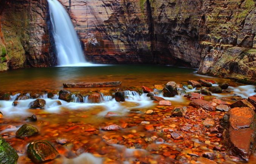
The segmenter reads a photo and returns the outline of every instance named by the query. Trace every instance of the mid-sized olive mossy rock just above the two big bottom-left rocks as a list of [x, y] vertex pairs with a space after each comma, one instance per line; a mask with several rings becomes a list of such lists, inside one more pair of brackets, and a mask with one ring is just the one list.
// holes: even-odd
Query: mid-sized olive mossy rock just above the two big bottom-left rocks
[[17, 138], [31, 137], [33, 135], [38, 134], [39, 131], [30, 124], [24, 124], [20, 127], [19, 130], [16, 131]]

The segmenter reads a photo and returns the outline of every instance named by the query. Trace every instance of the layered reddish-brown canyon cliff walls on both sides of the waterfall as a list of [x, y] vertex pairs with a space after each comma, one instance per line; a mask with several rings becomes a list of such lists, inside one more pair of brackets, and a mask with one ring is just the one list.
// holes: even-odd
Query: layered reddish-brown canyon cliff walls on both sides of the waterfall
[[[189, 66], [201, 74], [256, 81], [253, 0], [59, 1], [88, 61]], [[47, 8], [46, 0], [8, 0], [0, 7], [2, 68], [56, 63]]]

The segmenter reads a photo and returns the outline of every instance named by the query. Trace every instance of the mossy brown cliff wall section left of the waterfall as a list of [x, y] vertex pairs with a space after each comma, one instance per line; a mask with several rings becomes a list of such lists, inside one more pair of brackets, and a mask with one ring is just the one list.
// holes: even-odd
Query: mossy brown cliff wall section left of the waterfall
[[46, 0], [0, 0], [0, 70], [54, 62]]

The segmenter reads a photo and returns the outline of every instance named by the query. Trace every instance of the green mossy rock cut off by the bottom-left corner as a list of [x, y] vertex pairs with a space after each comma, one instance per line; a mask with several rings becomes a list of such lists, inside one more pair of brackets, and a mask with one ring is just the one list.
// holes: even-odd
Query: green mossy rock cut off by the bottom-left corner
[[0, 164], [16, 164], [18, 158], [15, 149], [3, 137], [0, 137]]

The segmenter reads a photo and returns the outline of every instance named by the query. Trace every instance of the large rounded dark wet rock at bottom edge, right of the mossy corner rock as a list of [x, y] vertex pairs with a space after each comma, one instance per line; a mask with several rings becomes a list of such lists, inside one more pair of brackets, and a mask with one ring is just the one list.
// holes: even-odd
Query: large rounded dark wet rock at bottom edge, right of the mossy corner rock
[[53, 160], [59, 153], [48, 141], [34, 141], [28, 145], [28, 158], [35, 163]]

